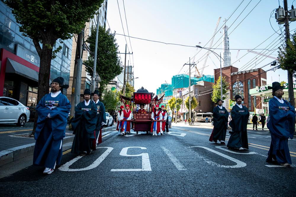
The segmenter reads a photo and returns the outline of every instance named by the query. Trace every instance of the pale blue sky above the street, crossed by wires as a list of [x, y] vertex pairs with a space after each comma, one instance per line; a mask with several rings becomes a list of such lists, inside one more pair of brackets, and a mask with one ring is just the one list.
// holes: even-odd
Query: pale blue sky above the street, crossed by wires
[[[230, 49], [235, 49], [230, 50], [231, 63], [233, 66], [243, 71], [251, 68], [259, 68], [274, 61], [271, 58], [263, 56], [257, 56], [257, 61], [255, 61], [256, 54], [248, 53], [247, 50], [243, 49], [253, 49], [271, 36], [254, 51], [271, 54], [271, 56], [277, 57], [278, 50], [272, 52], [262, 49], [269, 47], [271, 47], [270, 49], [276, 49], [283, 43], [283, 41], [281, 43], [280, 41], [284, 39], [284, 33], [279, 35], [274, 32], [274, 30], [279, 30], [279, 25], [274, 19], [274, 14], [272, 14], [270, 19], [271, 12], [279, 6], [279, 2], [277, 0], [261, 0], [255, 7], [259, 1], [260, 0], [125, 0], [125, 18], [123, 1], [109, 0], [107, 8], [107, 21], [109, 25], [106, 24], [106, 28], [110, 26], [111, 31], [116, 31], [118, 34], [123, 34], [124, 28], [126, 35], [128, 35], [129, 32], [130, 36], [137, 38], [165, 43], [209, 47], [209, 43], [206, 43], [212, 38], [218, 18], [222, 17], [213, 44], [217, 43], [212, 46], [212, 48], [222, 48], [223, 37], [221, 38], [221, 36], [223, 36], [223, 29], [220, 29], [220, 27], [224, 25], [223, 20], [226, 18], [228, 19], [226, 22], [226, 25], [229, 27], [228, 34], [230, 34], [229, 46]], [[242, 4], [234, 12], [241, 2]], [[120, 21], [118, 4], [123, 27]], [[249, 5], [247, 6], [247, 4]], [[282, 1], [280, 1], [280, 4], [283, 6]], [[292, 1], [288, 0], [289, 9], [291, 4]], [[245, 10], [243, 11], [243, 9]], [[252, 12], [250, 12], [251, 10]], [[232, 12], [234, 12], [234, 14], [230, 17]], [[242, 14], [239, 16], [241, 12]], [[249, 12], [250, 14], [247, 16]], [[244, 17], [246, 18], [244, 19]], [[271, 28], [269, 19], [274, 30]], [[234, 24], [231, 26], [233, 22]], [[281, 25], [281, 27], [283, 27], [283, 25]], [[290, 30], [295, 28], [296, 22], [291, 22]], [[292, 31], [292, 33], [293, 32], [294, 31]], [[278, 31], [278, 33], [281, 32]], [[201, 50], [192, 47], [165, 45], [134, 38], [130, 38], [130, 43], [128, 37], [126, 37], [125, 40], [124, 36], [121, 35], [116, 35], [115, 38], [117, 39], [120, 53], [124, 53], [126, 42], [128, 43], [129, 51], [133, 51], [133, 56], [127, 56], [127, 62], [129, 60], [130, 64], [134, 66], [134, 76], [139, 77], [135, 79], [135, 89], [143, 86], [148, 89], [149, 92], [155, 93], [156, 89], [160, 87], [162, 83], [171, 83], [171, 77], [173, 75], [188, 73], [188, 66], [183, 67], [183, 65], [189, 61], [189, 57], [193, 59], [193, 56]], [[219, 45], [219, 43], [221, 44]], [[237, 49], [242, 49], [239, 51], [238, 58], [236, 58]], [[194, 61], [196, 63], [198, 62], [198, 69], [201, 69], [204, 64], [204, 60], [198, 60], [202, 58], [206, 52], [205, 49], [202, 49], [194, 57]], [[215, 49], [215, 52], [223, 53], [222, 49]], [[246, 53], [248, 54], [245, 55]], [[122, 61], [124, 61], [124, 55], [121, 55], [121, 58]], [[239, 58], [241, 59], [236, 61]], [[210, 54], [210, 58], [207, 59], [206, 67], [202, 74], [214, 74], [213, 69], [217, 67], [213, 64], [211, 59], [216, 66], [220, 66], [218, 59], [213, 54]], [[247, 63], [250, 60], [252, 64], [248, 65]], [[268, 65], [263, 69], [267, 70], [270, 68], [271, 67]], [[192, 74], [195, 74], [194, 70]], [[279, 81], [279, 75], [280, 81], [287, 82], [287, 71], [278, 69], [275, 72], [267, 72], [268, 83]]]

